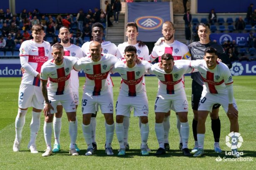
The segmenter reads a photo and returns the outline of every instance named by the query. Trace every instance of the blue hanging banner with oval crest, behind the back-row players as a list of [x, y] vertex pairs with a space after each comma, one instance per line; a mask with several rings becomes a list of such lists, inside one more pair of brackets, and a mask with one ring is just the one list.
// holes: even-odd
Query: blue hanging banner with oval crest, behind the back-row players
[[162, 24], [170, 21], [169, 2], [136, 2], [127, 3], [128, 22], [136, 22], [138, 40], [155, 42], [162, 37]]

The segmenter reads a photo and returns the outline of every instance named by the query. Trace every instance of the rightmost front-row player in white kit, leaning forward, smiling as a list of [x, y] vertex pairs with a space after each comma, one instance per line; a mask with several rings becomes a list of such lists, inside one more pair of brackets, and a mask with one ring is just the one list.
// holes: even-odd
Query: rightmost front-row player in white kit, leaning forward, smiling
[[[238, 110], [233, 97], [233, 79], [226, 64], [218, 62], [218, 52], [213, 47], [204, 51], [204, 60], [191, 61], [190, 66], [199, 70], [204, 81], [198, 107], [198, 151], [194, 157], [204, 154], [205, 121], [214, 104], [221, 104], [230, 121], [230, 132], [239, 132]], [[218, 112], [211, 112], [217, 114]], [[216, 115], [213, 115], [216, 117]], [[236, 152], [236, 151], [235, 151]]]

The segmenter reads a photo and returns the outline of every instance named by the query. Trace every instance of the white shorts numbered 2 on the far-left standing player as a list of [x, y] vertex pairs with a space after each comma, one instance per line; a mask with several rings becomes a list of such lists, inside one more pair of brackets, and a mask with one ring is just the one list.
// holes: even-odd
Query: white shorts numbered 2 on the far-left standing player
[[35, 85], [20, 84], [18, 105], [21, 109], [34, 107], [36, 109], [44, 108], [44, 97], [41, 87]]

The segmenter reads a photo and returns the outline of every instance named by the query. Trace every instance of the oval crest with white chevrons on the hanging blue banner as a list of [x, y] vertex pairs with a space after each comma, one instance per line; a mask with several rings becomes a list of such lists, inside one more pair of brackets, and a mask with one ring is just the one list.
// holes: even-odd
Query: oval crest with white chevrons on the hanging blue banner
[[160, 27], [163, 24], [164, 19], [157, 16], [143, 16], [136, 18], [135, 22], [141, 29], [152, 30]]

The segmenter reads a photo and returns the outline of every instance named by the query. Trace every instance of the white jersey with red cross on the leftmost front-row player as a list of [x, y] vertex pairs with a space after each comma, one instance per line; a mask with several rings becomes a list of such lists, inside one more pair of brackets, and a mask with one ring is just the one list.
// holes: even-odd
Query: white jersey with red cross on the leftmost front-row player
[[70, 73], [78, 58], [64, 57], [61, 65], [56, 65], [53, 61], [51, 59], [43, 64], [40, 74], [42, 80], [48, 80], [47, 92], [50, 95], [72, 93]]

